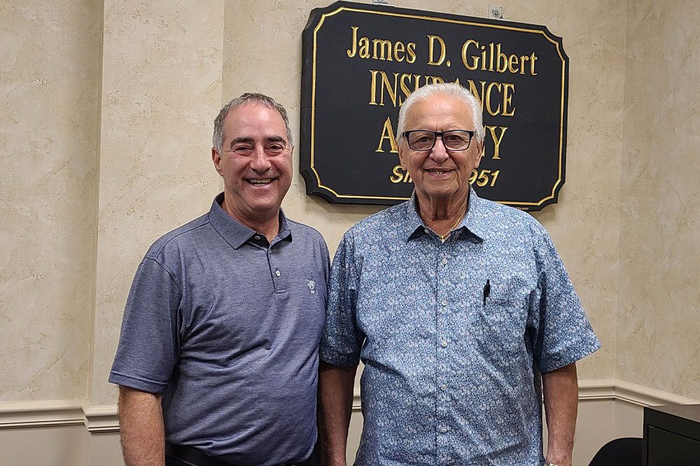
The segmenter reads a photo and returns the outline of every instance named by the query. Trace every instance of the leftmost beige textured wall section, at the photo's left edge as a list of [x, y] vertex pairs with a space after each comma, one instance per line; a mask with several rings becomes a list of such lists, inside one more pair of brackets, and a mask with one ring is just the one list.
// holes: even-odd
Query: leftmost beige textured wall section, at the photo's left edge
[[0, 5], [0, 402], [87, 392], [99, 5]]

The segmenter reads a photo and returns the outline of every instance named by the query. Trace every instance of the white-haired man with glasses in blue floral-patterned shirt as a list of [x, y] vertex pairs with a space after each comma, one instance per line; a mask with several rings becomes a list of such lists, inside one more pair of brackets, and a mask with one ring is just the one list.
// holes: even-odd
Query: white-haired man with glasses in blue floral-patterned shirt
[[399, 113], [406, 203], [351, 228], [333, 261], [321, 340], [325, 464], [344, 465], [359, 361], [357, 465], [571, 465], [575, 362], [601, 345], [549, 235], [479, 198], [479, 102], [455, 84]]

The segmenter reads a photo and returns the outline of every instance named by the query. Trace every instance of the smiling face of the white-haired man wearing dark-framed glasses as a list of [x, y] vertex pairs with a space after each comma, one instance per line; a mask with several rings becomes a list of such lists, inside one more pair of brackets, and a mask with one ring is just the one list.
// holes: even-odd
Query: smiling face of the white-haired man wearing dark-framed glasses
[[[474, 130], [467, 103], [453, 96], [437, 94], [417, 101], [406, 115], [405, 130]], [[469, 193], [469, 177], [481, 161], [482, 144], [472, 138], [466, 150], [446, 150], [437, 138], [432, 150], [412, 150], [405, 138], [398, 148], [401, 166], [416, 185], [419, 204], [463, 203]]]

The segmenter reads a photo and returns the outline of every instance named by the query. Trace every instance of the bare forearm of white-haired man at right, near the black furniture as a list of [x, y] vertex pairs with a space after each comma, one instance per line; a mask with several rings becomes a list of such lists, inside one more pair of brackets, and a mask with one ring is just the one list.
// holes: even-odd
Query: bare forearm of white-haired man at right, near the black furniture
[[547, 461], [571, 466], [578, 409], [576, 363], [542, 374], [547, 418]]

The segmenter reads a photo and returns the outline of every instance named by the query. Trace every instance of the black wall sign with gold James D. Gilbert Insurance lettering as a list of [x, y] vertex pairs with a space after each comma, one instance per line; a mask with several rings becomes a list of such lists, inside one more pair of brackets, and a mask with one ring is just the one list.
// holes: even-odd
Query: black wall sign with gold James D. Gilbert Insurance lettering
[[308, 194], [392, 205], [411, 195], [395, 142], [406, 97], [459, 82], [484, 110], [471, 182], [524, 210], [556, 203], [564, 182], [568, 57], [544, 26], [338, 1], [303, 33], [300, 171]]

